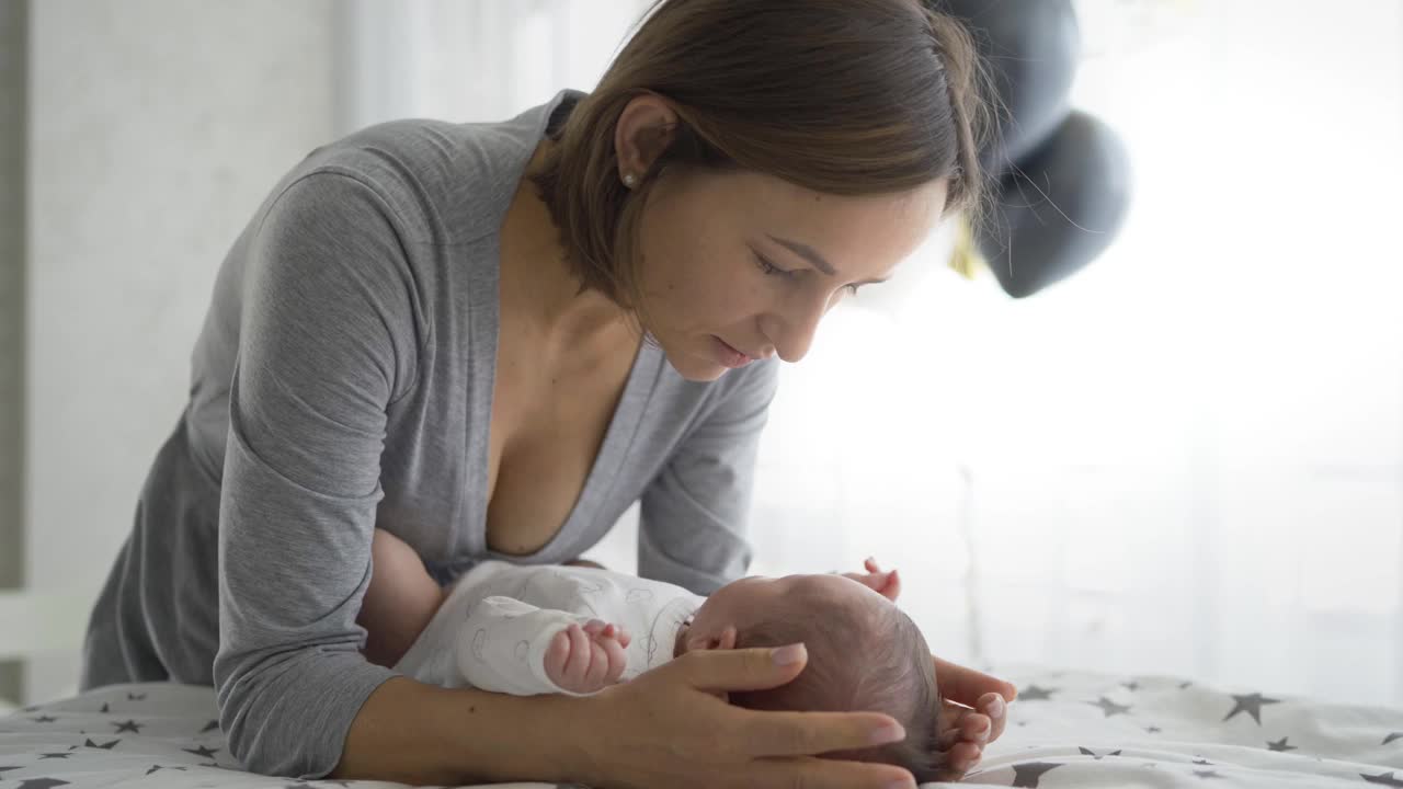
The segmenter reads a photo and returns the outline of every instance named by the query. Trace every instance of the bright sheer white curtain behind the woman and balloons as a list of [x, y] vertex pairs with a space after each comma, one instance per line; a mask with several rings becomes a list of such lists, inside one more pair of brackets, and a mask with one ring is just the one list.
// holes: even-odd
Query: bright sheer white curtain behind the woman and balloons
[[[588, 88], [624, 6], [352, 4], [405, 32], [359, 51], [398, 81], [347, 105], [477, 119]], [[978, 664], [1403, 703], [1403, 6], [1080, 10], [1075, 101], [1135, 167], [1121, 237], [1013, 302], [941, 234], [835, 310], [774, 403], [756, 570], [875, 555]], [[600, 552], [627, 567], [630, 536]]]

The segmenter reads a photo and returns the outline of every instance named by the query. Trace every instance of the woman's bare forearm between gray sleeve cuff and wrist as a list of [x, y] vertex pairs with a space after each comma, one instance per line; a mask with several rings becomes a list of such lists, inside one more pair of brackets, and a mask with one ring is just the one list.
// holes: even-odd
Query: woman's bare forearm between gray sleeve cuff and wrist
[[579, 701], [445, 689], [396, 677], [356, 713], [331, 778], [448, 786], [581, 781], [589, 760], [570, 724]]

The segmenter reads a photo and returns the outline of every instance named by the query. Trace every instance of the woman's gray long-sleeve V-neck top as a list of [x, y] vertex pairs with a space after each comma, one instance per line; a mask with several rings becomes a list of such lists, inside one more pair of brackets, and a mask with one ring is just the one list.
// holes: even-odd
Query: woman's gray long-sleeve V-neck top
[[431, 566], [558, 563], [641, 500], [638, 570], [696, 594], [745, 573], [776, 362], [687, 382], [644, 344], [584, 490], [539, 552], [487, 548], [506, 208], [557, 110], [397, 121], [311, 152], [220, 268], [189, 404], [88, 625], [83, 687], [212, 684], [255, 772], [335, 768], [393, 677], [355, 622], [379, 526]]

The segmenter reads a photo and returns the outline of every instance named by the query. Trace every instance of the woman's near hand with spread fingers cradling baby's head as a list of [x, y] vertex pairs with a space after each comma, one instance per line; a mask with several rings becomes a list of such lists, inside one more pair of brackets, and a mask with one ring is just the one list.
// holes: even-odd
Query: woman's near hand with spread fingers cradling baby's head
[[801, 646], [690, 651], [579, 699], [579, 781], [599, 789], [913, 789], [899, 767], [815, 758], [904, 738], [887, 715], [727, 703], [728, 692], [788, 682], [805, 661]]

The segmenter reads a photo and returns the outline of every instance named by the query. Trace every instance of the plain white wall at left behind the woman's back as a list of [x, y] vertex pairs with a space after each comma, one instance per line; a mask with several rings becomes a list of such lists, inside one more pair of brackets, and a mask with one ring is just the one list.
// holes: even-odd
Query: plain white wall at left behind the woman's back
[[[185, 403], [224, 251], [331, 138], [331, 4], [45, 0], [31, 14], [27, 574], [95, 594]], [[76, 677], [76, 651], [34, 661], [29, 698]]]

